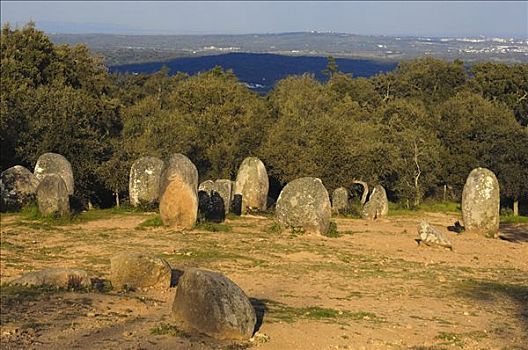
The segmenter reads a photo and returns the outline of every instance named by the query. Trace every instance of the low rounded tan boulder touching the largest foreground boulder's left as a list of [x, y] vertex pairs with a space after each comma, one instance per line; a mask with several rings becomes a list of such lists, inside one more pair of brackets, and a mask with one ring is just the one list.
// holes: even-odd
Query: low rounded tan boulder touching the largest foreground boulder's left
[[172, 269], [163, 259], [142, 253], [123, 253], [110, 259], [110, 282], [115, 289], [169, 288]]

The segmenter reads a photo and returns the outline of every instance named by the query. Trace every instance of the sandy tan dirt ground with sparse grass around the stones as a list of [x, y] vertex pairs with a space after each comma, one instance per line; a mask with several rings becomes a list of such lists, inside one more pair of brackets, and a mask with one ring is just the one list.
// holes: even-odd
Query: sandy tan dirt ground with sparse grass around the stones
[[[337, 218], [339, 237], [279, 233], [266, 217], [217, 232], [139, 228], [154, 214], [55, 226], [2, 216], [3, 349], [528, 349], [528, 225], [505, 239], [447, 227], [456, 214]], [[417, 224], [453, 250], [418, 246]], [[219, 343], [171, 326], [176, 288], [132, 292], [13, 290], [29, 271], [75, 267], [105, 279], [110, 257], [150, 252], [173, 268], [219, 271], [251, 298], [252, 341]]]

